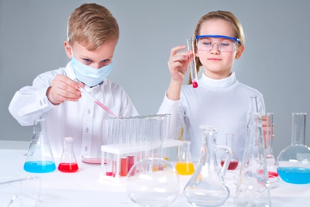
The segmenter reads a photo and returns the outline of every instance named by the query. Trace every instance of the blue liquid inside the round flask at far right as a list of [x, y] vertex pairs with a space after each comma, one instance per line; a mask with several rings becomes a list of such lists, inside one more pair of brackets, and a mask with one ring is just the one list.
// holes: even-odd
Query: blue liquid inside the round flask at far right
[[301, 167], [278, 167], [279, 176], [288, 183], [310, 183], [310, 169]]

